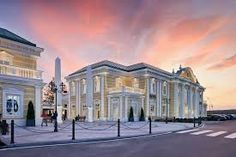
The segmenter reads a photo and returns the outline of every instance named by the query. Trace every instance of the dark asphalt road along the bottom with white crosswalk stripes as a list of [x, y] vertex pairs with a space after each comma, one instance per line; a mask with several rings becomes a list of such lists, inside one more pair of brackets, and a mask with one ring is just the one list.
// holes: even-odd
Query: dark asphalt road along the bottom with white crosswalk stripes
[[203, 128], [189, 132], [177, 132], [155, 137], [142, 137], [104, 143], [1, 150], [0, 156], [235, 157], [236, 120], [207, 124]]

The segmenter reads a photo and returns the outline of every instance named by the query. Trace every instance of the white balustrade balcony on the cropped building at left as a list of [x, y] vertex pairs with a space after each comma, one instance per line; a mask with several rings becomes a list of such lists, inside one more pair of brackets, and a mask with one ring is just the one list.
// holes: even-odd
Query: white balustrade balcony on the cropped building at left
[[29, 79], [42, 79], [42, 71], [0, 64], [0, 74]]

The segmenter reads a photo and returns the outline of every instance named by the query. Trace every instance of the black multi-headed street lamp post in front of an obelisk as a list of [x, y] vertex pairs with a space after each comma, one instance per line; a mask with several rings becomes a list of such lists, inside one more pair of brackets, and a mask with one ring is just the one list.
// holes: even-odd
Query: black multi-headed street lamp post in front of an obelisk
[[54, 118], [55, 118], [55, 122], [54, 122], [54, 132], [58, 132], [58, 129], [57, 129], [57, 116], [58, 116], [58, 113], [57, 113], [57, 93], [63, 93], [65, 90], [65, 84], [63, 82], [60, 83], [59, 87], [57, 87], [57, 85], [55, 84], [55, 81], [52, 80], [48, 87], [50, 88], [50, 90], [55, 93], [55, 112], [54, 112]]

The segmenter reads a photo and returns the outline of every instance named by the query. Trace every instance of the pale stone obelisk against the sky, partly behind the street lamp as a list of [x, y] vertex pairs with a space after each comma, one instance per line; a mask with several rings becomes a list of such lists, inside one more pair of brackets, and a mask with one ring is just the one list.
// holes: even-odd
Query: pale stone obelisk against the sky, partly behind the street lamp
[[[61, 59], [59, 57], [55, 60], [55, 84], [60, 90], [61, 84]], [[62, 96], [60, 92], [57, 92], [57, 122], [62, 123]]]

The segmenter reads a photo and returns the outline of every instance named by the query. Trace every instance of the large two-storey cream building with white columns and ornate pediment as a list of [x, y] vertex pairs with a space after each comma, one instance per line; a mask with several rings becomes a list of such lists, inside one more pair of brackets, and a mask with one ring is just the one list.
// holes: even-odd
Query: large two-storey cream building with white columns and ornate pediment
[[135, 120], [141, 108], [146, 119], [206, 116], [205, 88], [189, 67], [169, 73], [145, 63], [124, 66], [101, 61], [70, 74], [66, 80], [70, 118], [80, 115], [89, 121], [127, 121], [131, 107]]

